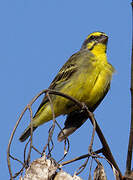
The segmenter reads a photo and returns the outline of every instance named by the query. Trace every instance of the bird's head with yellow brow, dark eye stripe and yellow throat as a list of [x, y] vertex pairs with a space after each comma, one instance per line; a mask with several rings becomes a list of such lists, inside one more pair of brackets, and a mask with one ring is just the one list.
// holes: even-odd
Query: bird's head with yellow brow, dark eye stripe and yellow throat
[[83, 42], [81, 49], [88, 49], [92, 53], [106, 53], [108, 36], [103, 32], [93, 32]]

